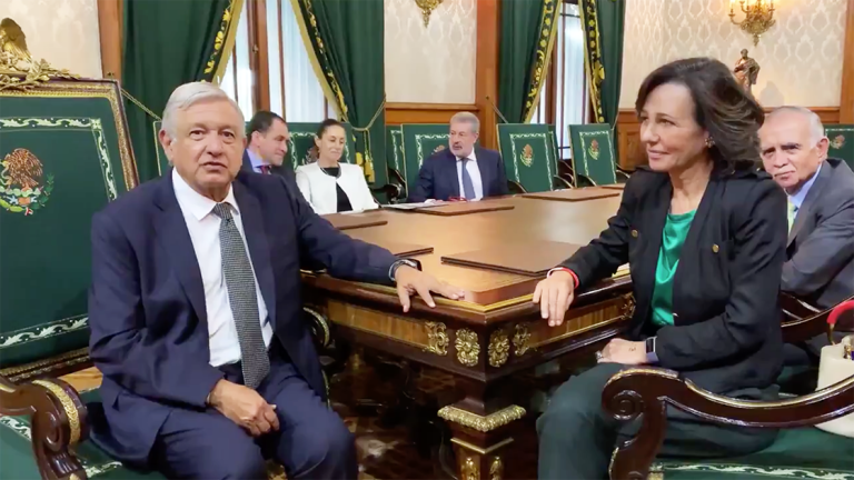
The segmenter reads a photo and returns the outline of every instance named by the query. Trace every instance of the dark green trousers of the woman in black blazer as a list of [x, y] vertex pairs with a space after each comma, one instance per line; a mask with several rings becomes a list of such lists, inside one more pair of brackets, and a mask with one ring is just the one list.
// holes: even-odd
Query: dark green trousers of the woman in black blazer
[[[537, 420], [539, 480], [604, 480], [618, 441], [633, 438], [643, 418], [622, 423], [602, 410], [602, 390], [624, 366], [600, 363], [558, 388]], [[762, 450], [776, 430], [706, 423], [668, 407], [659, 454], [676, 458], [736, 457]]]

